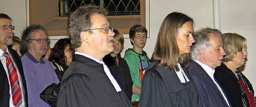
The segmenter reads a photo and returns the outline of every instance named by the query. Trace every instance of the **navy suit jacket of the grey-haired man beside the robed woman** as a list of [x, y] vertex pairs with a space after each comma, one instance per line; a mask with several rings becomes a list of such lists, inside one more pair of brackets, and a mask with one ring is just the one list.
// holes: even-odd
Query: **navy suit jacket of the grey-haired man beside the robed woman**
[[196, 83], [204, 107], [228, 107], [220, 90], [198, 63], [192, 60], [188, 72]]

